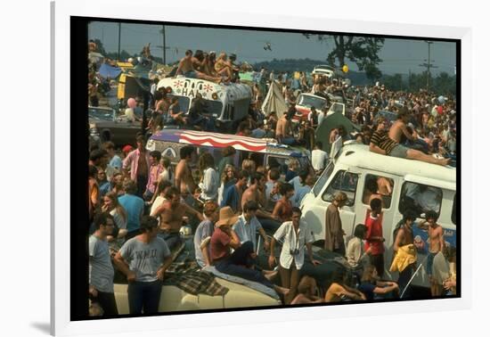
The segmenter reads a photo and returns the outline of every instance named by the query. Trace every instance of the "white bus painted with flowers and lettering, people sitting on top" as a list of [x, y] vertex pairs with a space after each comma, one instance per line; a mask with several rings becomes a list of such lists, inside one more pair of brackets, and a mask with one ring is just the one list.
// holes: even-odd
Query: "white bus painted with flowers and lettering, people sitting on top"
[[245, 118], [249, 113], [252, 89], [246, 84], [222, 86], [200, 78], [163, 78], [157, 88], [165, 88], [167, 95], [176, 96], [184, 113], [189, 112], [197, 93], [207, 103], [206, 117], [212, 117], [225, 124]]

